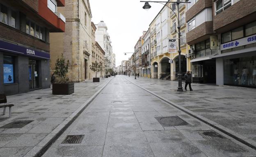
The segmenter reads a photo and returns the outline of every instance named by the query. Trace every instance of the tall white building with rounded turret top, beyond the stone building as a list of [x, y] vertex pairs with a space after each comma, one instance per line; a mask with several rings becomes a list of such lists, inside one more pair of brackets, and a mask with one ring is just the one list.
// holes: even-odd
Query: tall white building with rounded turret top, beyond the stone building
[[107, 33], [107, 25], [104, 21], [101, 21], [96, 24], [96, 27], [96, 41], [105, 51], [105, 69], [113, 69], [115, 67], [115, 55], [113, 53], [110, 35]]

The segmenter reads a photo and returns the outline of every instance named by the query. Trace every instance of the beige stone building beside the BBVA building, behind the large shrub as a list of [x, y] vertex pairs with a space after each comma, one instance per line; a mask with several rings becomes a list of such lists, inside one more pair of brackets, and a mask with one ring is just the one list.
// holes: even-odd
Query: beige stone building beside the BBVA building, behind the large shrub
[[[59, 9], [59, 8], [58, 8]], [[91, 78], [91, 9], [89, 0], [69, 0], [59, 12], [66, 17], [65, 33], [50, 33], [51, 70], [58, 56], [69, 60], [69, 81]]]

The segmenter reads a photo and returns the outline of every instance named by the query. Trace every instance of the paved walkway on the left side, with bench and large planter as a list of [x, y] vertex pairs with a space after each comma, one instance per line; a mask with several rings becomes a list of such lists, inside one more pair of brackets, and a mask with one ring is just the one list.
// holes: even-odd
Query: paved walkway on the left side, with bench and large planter
[[[52, 95], [49, 88], [8, 96], [8, 103], [15, 106], [11, 118], [8, 109], [6, 115], [0, 115], [0, 157], [23, 157], [39, 150], [111, 79], [75, 83], [75, 93], [71, 95]], [[22, 127], [19, 121], [28, 124]], [[5, 126], [11, 122], [16, 125]]]

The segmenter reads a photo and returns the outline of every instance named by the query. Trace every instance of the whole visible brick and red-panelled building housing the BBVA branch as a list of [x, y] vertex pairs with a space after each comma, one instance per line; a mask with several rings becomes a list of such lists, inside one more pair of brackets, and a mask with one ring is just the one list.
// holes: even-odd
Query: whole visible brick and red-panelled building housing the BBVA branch
[[0, 1], [0, 93], [50, 88], [49, 32], [64, 32], [65, 0]]

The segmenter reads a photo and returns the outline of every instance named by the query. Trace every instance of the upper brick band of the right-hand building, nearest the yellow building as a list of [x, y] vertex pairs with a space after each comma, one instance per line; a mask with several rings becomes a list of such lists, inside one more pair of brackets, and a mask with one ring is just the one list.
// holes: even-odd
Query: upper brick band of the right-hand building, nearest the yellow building
[[197, 15], [200, 11], [205, 8], [212, 7], [213, 1], [212, 0], [198, 0], [190, 9], [186, 12], [186, 22]]

